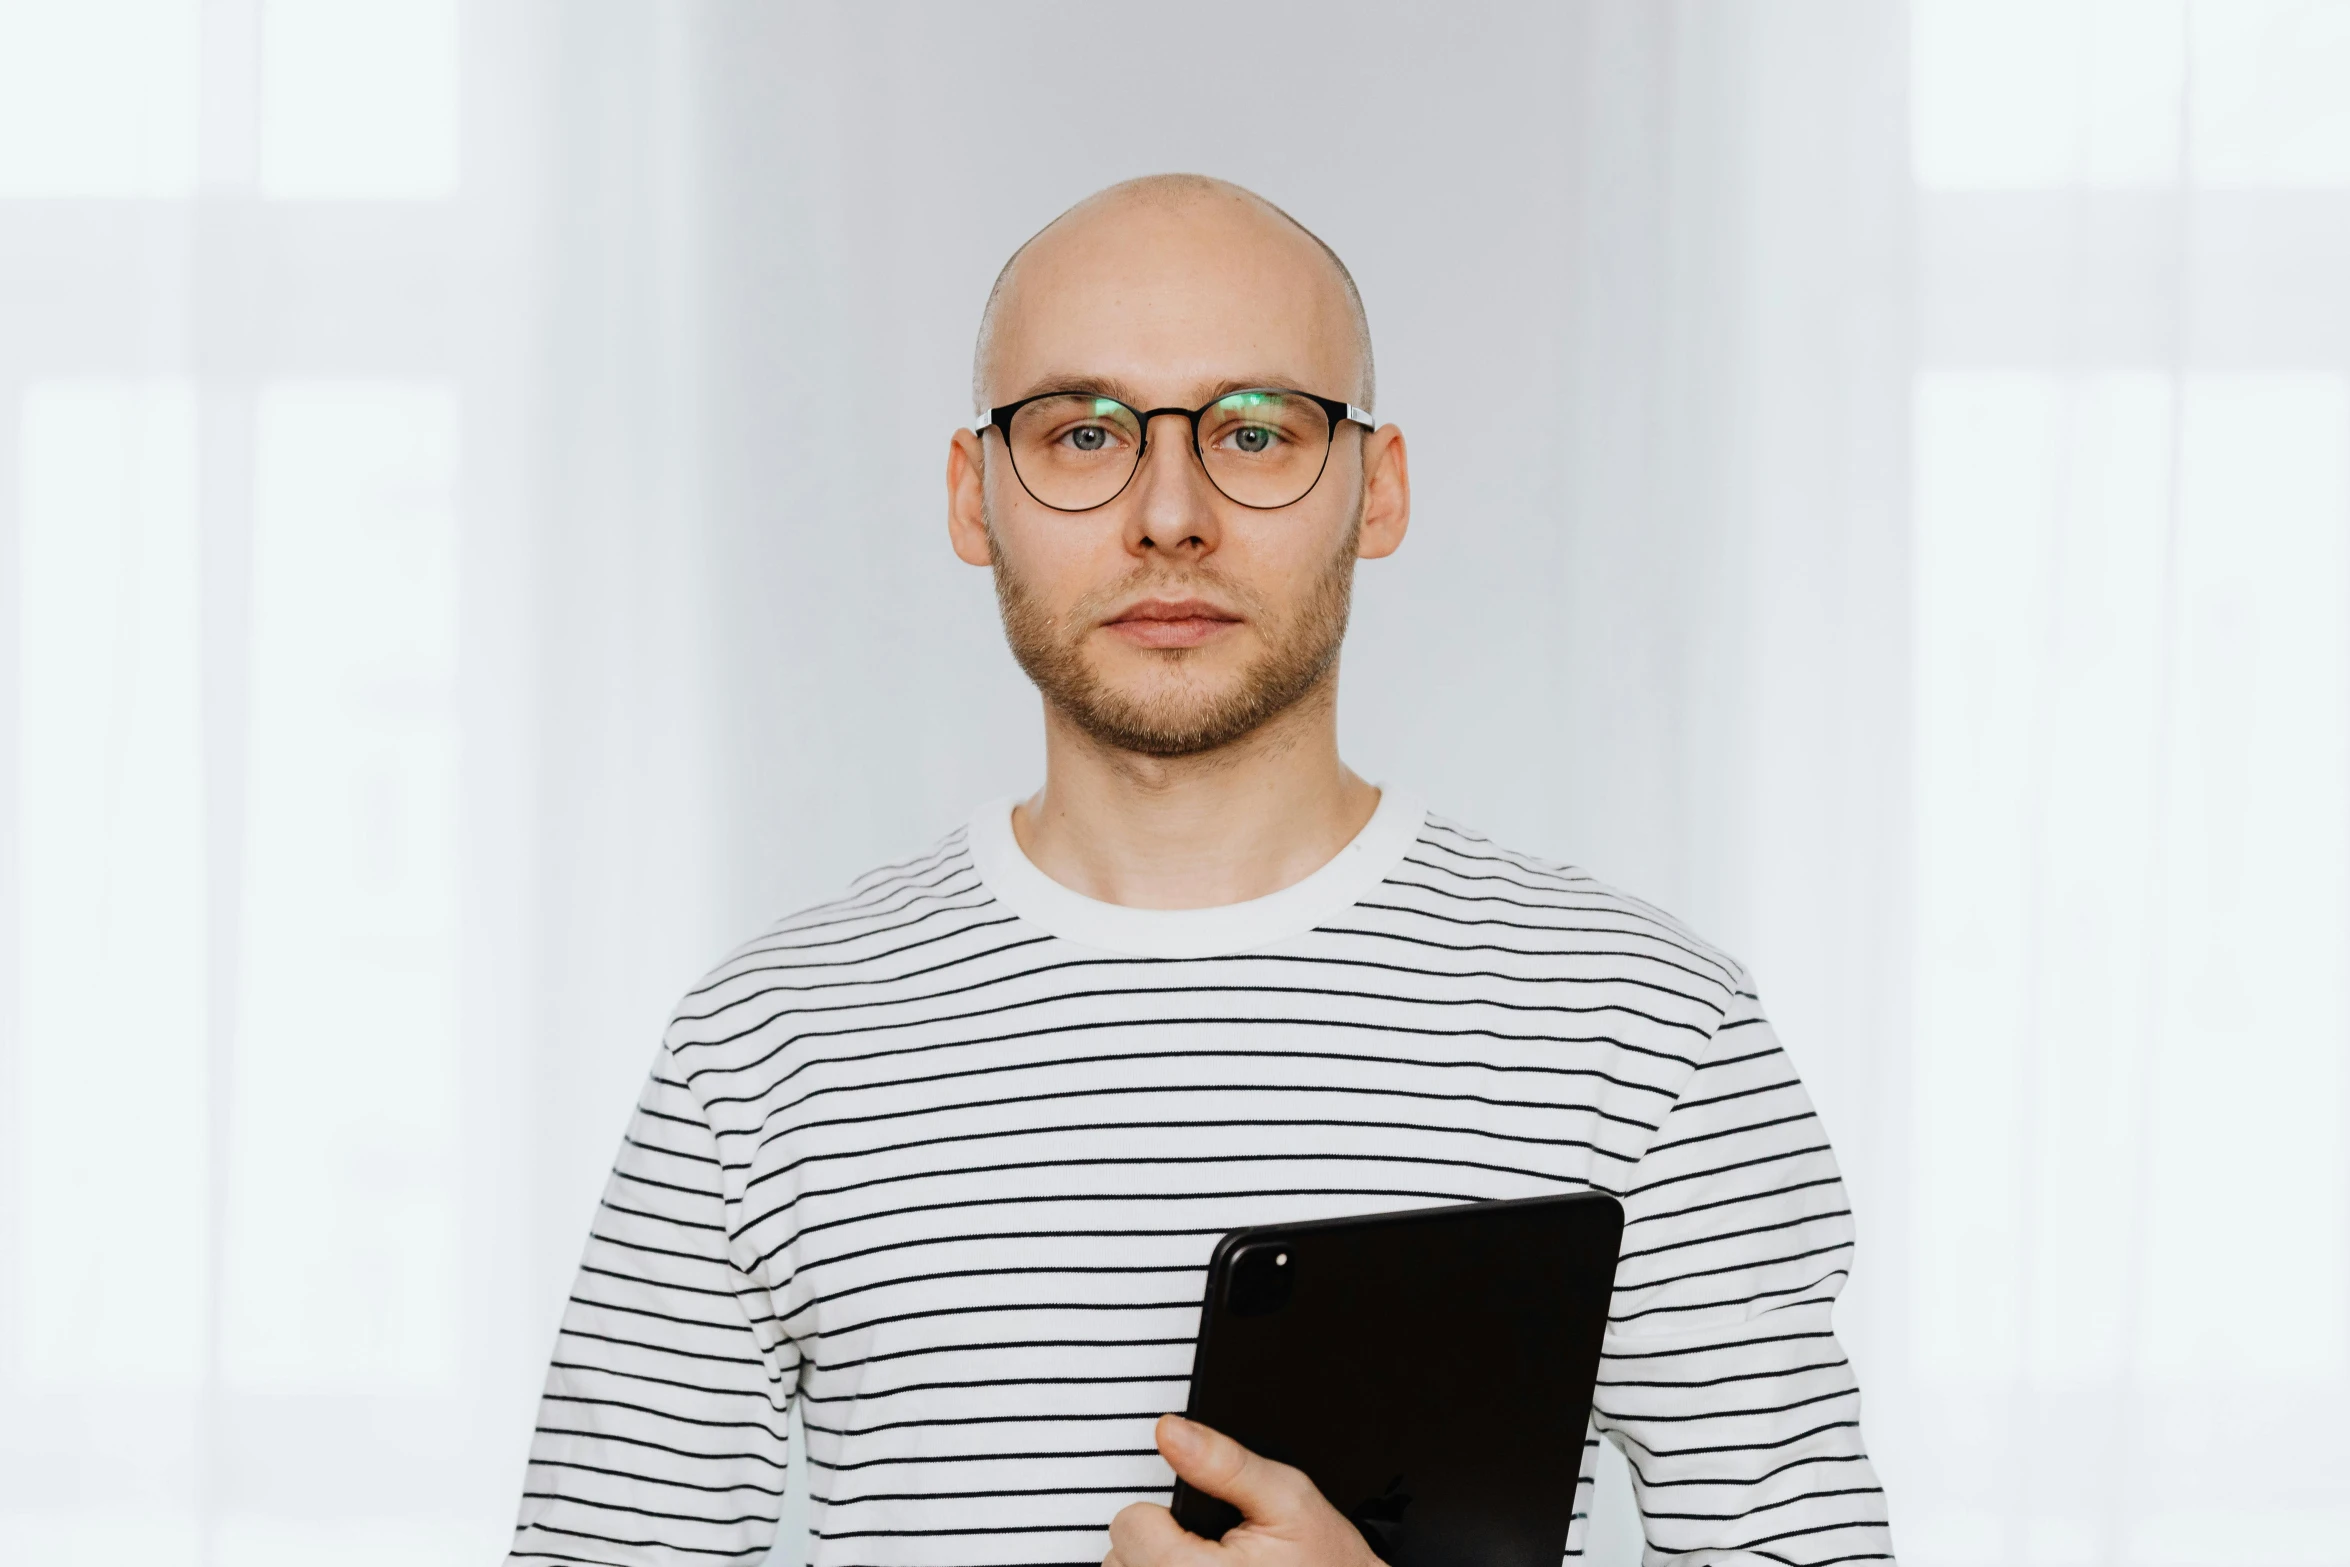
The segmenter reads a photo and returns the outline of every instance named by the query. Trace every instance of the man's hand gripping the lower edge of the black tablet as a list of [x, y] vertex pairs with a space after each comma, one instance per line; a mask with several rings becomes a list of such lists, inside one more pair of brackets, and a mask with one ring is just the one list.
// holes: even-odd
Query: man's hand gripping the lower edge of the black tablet
[[1241, 1508], [1241, 1522], [1210, 1541], [1156, 1501], [1135, 1501], [1109, 1522], [1102, 1567], [1384, 1567], [1302, 1471], [1180, 1414], [1159, 1417], [1156, 1440], [1177, 1475]]

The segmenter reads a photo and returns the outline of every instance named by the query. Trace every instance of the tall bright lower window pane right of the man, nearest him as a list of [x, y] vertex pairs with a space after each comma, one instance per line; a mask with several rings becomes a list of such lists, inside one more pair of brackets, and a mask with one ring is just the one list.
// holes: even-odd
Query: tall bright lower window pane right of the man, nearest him
[[2155, 376], [1918, 392], [1915, 1201], [1946, 1240], [1913, 1299], [1934, 1379], [2127, 1358], [2110, 1215], [2146, 1029], [2169, 428]]

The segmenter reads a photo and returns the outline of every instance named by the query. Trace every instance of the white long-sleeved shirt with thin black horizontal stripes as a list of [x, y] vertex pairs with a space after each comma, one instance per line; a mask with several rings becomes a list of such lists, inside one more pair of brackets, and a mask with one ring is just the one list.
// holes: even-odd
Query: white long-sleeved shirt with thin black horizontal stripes
[[1852, 1215], [1734, 961], [1394, 789], [1184, 912], [1062, 888], [989, 806], [679, 1006], [510, 1560], [754, 1562], [797, 1400], [818, 1567], [1100, 1562], [1170, 1494], [1217, 1236], [1582, 1189], [1626, 1210], [1591, 1445], [1650, 1560], [1892, 1560], [1828, 1325]]

